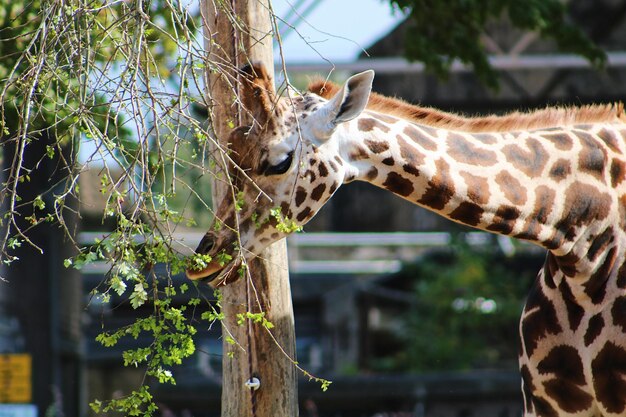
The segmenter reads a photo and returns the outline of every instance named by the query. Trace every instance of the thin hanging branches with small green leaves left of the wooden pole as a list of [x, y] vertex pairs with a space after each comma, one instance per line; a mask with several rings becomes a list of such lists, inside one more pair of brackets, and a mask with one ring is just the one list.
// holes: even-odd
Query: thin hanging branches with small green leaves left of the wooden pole
[[[96, 400], [92, 408], [102, 413], [151, 415], [156, 407], [147, 384], [175, 383], [173, 367], [195, 351], [195, 309], [200, 302], [213, 308], [211, 300], [188, 294], [182, 305], [172, 301], [187, 290], [187, 284], [175, 287], [172, 276], [211, 261], [182, 256], [191, 250], [174, 237], [177, 228], [195, 224], [185, 211], [190, 205], [209, 211], [206, 177], [216, 171], [208, 162], [208, 125], [196, 118], [208, 103], [199, 93], [204, 52], [196, 39], [197, 9], [190, 6], [169, 0], [0, 4], [0, 162], [7, 173], [0, 184], [6, 209], [0, 261], [9, 267], [20, 261], [16, 250], [35, 246], [32, 230], [52, 222], [74, 242], [65, 220], [75, 207], [68, 209], [68, 201], [83, 201], [81, 174], [98, 170], [99, 185], [87, 186], [97, 187], [106, 202], [102, 221], [115, 229], [77, 247], [64, 265], [108, 266], [92, 297], [141, 312], [135, 323], [103, 332], [100, 343], [151, 339], [121, 358], [145, 370], [145, 385], [123, 398]], [[67, 178], [25, 200], [31, 178], [48, 175], [47, 161]], [[23, 219], [25, 212], [32, 215]], [[155, 272], [158, 265], [166, 265], [165, 275]]]

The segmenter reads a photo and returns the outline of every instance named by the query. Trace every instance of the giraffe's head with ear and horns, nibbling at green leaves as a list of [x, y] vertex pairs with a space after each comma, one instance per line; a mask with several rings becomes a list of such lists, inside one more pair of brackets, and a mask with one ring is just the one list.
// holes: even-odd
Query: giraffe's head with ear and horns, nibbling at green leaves
[[196, 253], [209, 255], [192, 280], [226, 284], [242, 261], [307, 223], [353, 168], [340, 156], [338, 128], [365, 108], [373, 71], [354, 75], [329, 100], [307, 92], [277, 98], [263, 66], [242, 69], [240, 100], [251, 126], [228, 138], [232, 187]]

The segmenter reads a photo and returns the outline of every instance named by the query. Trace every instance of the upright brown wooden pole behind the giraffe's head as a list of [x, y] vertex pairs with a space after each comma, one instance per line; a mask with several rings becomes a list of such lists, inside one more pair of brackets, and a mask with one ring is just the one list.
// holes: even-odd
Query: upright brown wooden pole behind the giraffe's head
[[[209, 59], [207, 93], [214, 132], [220, 141], [227, 138], [229, 124], [246, 122], [245, 113], [234, 105], [235, 68], [261, 62], [273, 75], [269, 10], [268, 0], [204, 0], [202, 17]], [[218, 64], [220, 71], [211, 71], [211, 63]], [[214, 205], [227, 191], [214, 183]], [[223, 417], [298, 415], [297, 373], [292, 362], [295, 331], [286, 255], [282, 240], [262, 253], [263, 261], [250, 265], [251, 280], [239, 279], [221, 290], [222, 312], [226, 316], [222, 333], [226, 339], [230, 332], [238, 343], [223, 342]], [[258, 324], [238, 326], [237, 314], [246, 311], [264, 311], [274, 325], [271, 334]], [[260, 380], [256, 391], [246, 387], [246, 381], [252, 377]]]

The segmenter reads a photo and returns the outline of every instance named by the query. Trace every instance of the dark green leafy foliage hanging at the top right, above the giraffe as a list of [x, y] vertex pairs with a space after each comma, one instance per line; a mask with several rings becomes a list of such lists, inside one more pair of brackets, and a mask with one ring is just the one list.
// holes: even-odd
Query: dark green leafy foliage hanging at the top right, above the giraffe
[[409, 12], [406, 55], [445, 77], [455, 58], [474, 67], [482, 82], [497, 86], [497, 73], [489, 64], [481, 35], [487, 24], [503, 15], [520, 29], [536, 31], [554, 40], [561, 51], [582, 55], [596, 66], [605, 53], [567, 17], [561, 0], [389, 0]]

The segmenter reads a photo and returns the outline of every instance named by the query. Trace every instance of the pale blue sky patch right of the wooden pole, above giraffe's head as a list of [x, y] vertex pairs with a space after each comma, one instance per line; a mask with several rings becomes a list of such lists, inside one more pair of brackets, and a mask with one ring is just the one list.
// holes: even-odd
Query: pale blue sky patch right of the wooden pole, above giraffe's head
[[310, 14], [297, 24], [298, 33], [284, 32], [287, 62], [353, 60], [402, 19], [386, 0], [273, 0], [272, 6], [283, 18], [293, 6], [300, 6], [301, 12], [311, 7]]

